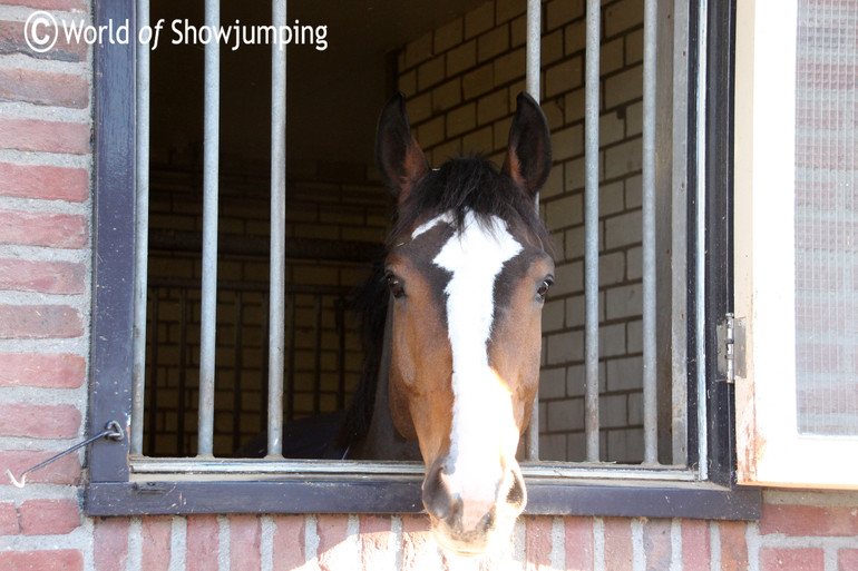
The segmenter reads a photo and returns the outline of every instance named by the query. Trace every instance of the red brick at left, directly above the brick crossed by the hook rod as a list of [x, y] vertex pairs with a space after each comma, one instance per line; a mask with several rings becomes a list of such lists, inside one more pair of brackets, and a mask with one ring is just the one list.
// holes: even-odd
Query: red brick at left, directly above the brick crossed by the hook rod
[[0, 436], [74, 439], [80, 420], [70, 404], [0, 403]]

